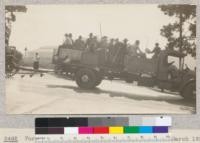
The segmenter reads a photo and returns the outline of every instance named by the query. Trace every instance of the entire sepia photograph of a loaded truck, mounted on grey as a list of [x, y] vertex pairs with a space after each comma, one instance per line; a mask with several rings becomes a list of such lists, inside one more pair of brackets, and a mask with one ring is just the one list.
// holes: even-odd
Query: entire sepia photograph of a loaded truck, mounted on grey
[[196, 5], [5, 6], [7, 114], [195, 114]]

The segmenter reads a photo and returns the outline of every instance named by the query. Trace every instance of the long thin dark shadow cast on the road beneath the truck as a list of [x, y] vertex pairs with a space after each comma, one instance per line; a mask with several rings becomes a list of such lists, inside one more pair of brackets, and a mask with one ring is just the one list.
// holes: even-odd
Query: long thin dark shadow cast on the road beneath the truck
[[[182, 98], [178, 97], [178, 95], [177, 95], [177, 97], [168, 97], [168, 96], [163, 96], [163, 95], [160, 95], [159, 97], [155, 97], [155, 96], [153, 97], [153, 96], [147, 96], [147, 95], [136, 95], [136, 94], [120, 92], [120, 91], [104, 90], [104, 89], [100, 89], [100, 88], [95, 88], [92, 90], [85, 90], [85, 89], [81, 89], [76, 86], [56, 85], [56, 84], [48, 84], [47, 87], [48, 88], [72, 89], [77, 93], [94, 93], [94, 95], [105, 93], [105, 94], [108, 94], [110, 97], [126, 97], [126, 98], [130, 98], [133, 100], [139, 100], [139, 101], [154, 100], [154, 101], [165, 101], [165, 102], [168, 102], [171, 104], [183, 105], [183, 106], [188, 106], [188, 107], [196, 106], [195, 101], [183, 100]], [[187, 110], [187, 109], [185, 109], [185, 110]]]

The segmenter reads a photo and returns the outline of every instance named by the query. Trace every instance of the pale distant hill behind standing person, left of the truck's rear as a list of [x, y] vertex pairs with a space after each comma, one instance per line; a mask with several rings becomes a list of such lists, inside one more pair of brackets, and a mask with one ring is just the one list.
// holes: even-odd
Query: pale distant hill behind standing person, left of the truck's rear
[[40, 56], [40, 67], [46, 69], [53, 69], [54, 65], [52, 64], [53, 50], [56, 49], [56, 46], [45, 46], [36, 50], [28, 51], [26, 55], [23, 55], [23, 65], [32, 67], [33, 58], [37, 52]]

